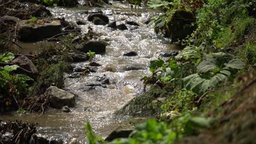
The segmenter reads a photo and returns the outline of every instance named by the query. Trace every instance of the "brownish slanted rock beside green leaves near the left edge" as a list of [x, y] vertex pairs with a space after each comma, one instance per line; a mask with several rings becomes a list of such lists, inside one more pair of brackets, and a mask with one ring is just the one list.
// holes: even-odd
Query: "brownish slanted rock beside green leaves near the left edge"
[[15, 58], [13, 62], [32, 73], [38, 73], [36, 66], [26, 56], [19, 56]]

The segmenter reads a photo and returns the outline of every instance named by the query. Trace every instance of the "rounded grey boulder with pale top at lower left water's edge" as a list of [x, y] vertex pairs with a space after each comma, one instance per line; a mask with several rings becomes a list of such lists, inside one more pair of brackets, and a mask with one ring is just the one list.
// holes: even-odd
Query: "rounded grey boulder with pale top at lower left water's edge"
[[49, 99], [50, 106], [55, 109], [61, 109], [62, 106], [73, 107], [75, 105], [75, 95], [59, 89], [55, 86], [50, 86], [46, 89], [44, 95]]

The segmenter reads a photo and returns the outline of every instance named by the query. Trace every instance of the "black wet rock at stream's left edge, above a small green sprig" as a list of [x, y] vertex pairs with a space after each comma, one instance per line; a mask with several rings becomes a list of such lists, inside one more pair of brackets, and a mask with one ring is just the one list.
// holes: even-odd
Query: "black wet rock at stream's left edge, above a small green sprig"
[[101, 41], [88, 41], [83, 43], [83, 45], [77, 45], [75, 48], [82, 52], [89, 52], [89, 50], [95, 53], [106, 52], [106, 44]]

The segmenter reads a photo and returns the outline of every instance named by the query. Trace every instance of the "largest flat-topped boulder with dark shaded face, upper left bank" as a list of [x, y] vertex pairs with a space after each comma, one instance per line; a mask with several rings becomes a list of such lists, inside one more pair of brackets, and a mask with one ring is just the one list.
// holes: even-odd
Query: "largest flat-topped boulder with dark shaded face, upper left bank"
[[33, 23], [31, 20], [22, 20], [19, 22], [18, 38], [21, 41], [40, 41], [54, 35], [62, 33], [60, 20], [51, 22]]

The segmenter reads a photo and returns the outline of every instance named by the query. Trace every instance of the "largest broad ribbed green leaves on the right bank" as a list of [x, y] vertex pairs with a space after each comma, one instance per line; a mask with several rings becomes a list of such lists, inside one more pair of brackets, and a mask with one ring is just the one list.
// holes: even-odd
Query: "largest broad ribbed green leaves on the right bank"
[[203, 94], [216, 88], [220, 83], [234, 78], [238, 70], [245, 64], [234, 56], [218, 52], [204, 54], [203, 61], [197, 65], [195, 74], [183, 78], [185, 87], [196, 94]]

